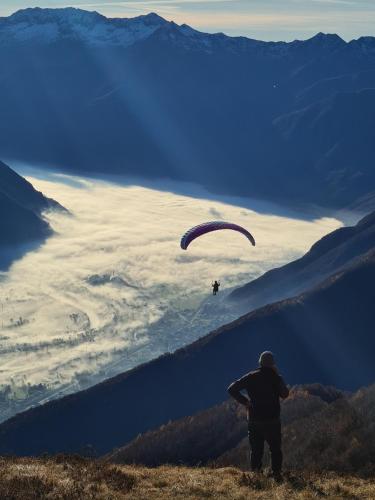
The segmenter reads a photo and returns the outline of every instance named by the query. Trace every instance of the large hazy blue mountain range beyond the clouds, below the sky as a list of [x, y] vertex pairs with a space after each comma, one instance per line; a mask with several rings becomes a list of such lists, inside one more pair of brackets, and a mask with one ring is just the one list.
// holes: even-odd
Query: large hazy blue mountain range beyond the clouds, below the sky
[[0, 19], [0, 155], [369, 209], [374, 63], [372, 37], [262, 42], [25, 9]]

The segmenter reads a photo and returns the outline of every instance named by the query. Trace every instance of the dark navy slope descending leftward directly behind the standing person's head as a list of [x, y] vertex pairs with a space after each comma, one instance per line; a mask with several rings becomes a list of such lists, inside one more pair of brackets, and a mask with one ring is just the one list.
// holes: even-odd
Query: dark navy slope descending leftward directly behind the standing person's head
[[226, 399], [230, 382], [276, 353], [290, 384], [354, 389], [375, 379], [375, 252], [309, 293], [243, 316], [173, 355], [0, 426], [0, 452], [99, 453]]

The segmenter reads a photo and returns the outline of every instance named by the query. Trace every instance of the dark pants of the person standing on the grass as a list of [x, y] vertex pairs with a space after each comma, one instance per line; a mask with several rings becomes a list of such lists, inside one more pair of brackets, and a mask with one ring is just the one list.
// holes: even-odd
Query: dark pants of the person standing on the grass
[[251, 470], [261, 470], [264, 442], [266, 441], [271, 452], [272, 471], [274, 474], [280, 474], [283, 463], [280, 419], [249, 421], [249, 441]]

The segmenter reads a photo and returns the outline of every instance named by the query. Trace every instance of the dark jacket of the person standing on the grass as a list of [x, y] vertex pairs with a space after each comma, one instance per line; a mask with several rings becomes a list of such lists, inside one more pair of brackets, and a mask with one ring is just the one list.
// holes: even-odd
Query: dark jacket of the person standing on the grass
[[280, 418], [280, 398], [289, 396], [284, 380], [273, 368], [261, 367], [244, 375], [228, 387], [229, 394], [241, 404], [248, 404], [249, 418], [254, 421]]

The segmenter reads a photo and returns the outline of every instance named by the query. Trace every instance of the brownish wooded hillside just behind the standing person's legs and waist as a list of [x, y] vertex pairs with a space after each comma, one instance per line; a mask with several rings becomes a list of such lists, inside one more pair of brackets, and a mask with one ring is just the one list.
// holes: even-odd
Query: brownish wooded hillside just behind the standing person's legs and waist
[[[282, 404], [286, 469], [373, 474], [374, 416], [375, 386], [350, 395], [319, 385], [296, 386]], [[138, 436], [109, 454], [108, 460], [247, 470], [248, 453], [245, 411], [227, 401]]]

